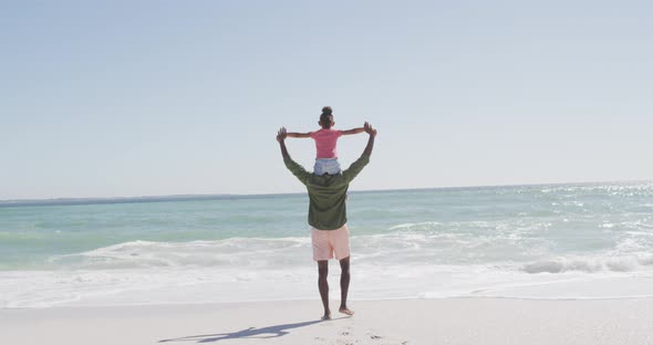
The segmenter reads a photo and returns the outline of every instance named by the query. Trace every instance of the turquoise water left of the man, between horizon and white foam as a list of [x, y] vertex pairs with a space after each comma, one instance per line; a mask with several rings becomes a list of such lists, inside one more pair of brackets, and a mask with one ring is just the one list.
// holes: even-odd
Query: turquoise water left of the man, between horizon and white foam
[[[302, 228], [301, 196], [0, 208], [0, 269], [131, 241], [278, 238]], [[301, 232], [301, 231], [300, 231]]]

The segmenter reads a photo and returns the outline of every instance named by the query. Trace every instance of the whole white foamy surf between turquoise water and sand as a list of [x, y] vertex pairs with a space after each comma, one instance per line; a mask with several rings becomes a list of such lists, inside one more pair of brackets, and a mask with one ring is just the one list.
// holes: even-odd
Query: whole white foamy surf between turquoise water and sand
[[[610, 252], [560, 257], [542, 255], [531, 244], [518, 236], [497, 240], [464, 232], [354, 236], [350, 295], [353, 300], [653, 295], [653, 255], [634, 240]], [[310, 258], [309, 237], [133, 241], [51, 257], [51, 270], [0, 271], [0, 307], [314, 299], [317, 269]], [[332, 262], [332, 291], [339, 289], [339, 276]]]

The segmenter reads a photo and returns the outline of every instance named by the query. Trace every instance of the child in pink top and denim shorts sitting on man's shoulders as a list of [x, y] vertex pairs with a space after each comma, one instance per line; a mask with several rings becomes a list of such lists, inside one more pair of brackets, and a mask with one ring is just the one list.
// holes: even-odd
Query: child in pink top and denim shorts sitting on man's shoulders
[[313, 138], [318, 150], [313, 174], [318, 176], [324, 174], [336, 175], [340, 172], [340, 163], [338, 163], [338, 153], [335, 151], [338, 138], [342, 135], [363, 133], [365, 128], [357, 127], [349, 130], [332, 129], [335, 122], [333, 122], [333, 109], [330, 106], [322, 108], [322, 115], [320, 115], [320, 122], [318, 124], [322, 127], [318, 132], [289, 132], [288, 136], [291, 138]]

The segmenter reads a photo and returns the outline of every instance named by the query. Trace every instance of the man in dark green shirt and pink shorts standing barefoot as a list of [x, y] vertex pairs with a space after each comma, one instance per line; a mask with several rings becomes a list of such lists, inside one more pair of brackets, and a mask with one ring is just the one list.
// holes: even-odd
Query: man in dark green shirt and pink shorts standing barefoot
[[313, 260], [318, 262], [318, 288], [324, 315], [322, 320], [331, 318], [329, 309], [329, 259], [340, 261], [340, 291], [341, 302], [339, 312], [353, 315], [354, 312], [346, 306], [346, 294], [350, 282], [350, 240], [349, 229], [346, 227], [346, 190], [349, 184], [361, 172], [370, 161], [376, 129], [372, 128], [369, 123], [364, 126], [365, 133], [370, 135], [367, 146], [356, 161], [349, 169], [336, 174], [322, 176], [308, 172], [302, 166], [290, 158], [286, 148], [286, 128], [281, 127], [277, 133], [277, 142], [281, 147], [281, 155], [286, 167], [307, 186], [309, 191], [309, 224], [313, 228], [311, 239], [313, 243]]

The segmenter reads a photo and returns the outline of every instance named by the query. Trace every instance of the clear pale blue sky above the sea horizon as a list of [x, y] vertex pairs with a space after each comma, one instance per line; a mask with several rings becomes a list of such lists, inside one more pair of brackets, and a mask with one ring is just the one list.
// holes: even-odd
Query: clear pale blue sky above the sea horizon
[[[646, 1], [1, 1], [0, 199], [301, 192], [281, 126], [377, 128], [352, 190], [653, 178]], [[339, 140], [341, 165], [366, 134]], [[311, 139], [287, 142], [312, 169]]]

